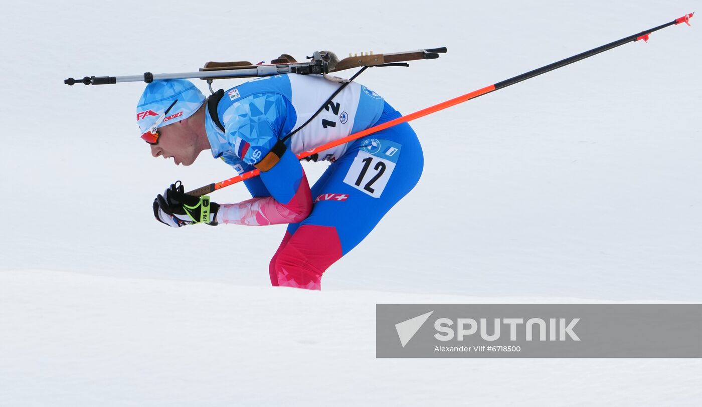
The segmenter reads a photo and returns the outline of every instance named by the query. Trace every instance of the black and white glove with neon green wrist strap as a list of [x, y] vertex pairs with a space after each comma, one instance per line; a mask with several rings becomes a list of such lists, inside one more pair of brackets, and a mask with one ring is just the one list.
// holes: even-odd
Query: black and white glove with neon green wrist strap
[[180, 181], [171, 184], [163, 195], [154, 199], [154, 217], [164, 225], [181, 227], [204, 222], [217, 225], [219, 205], [210, 201], [209, 196], [185, 194]]

